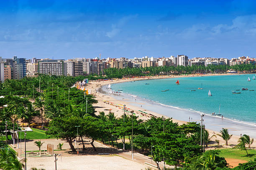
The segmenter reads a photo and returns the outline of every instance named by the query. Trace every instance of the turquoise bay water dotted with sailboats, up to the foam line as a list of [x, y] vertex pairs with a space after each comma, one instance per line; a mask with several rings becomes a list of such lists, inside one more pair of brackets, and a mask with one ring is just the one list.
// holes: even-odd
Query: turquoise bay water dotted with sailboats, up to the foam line
[[[248, 77], [251, 82], [247, 81]], [[193, 110], [199, 114], [218, 113], [220, 106], [220, 114], [224, 117], [256, 124], [256, 80], [252, 80], [252, 77], [252, 74], [246, 74], [140, 80], [113, 84], [112, 88], [113, 90], [121, 88], [124, 93], [183, 110]], [[175, 84], [177, 80], [180, 85]], [[201, 84], [203, 89], [198, 90]], [[242, 87], [247, 87], [248, 90], [241, 90]], [[169, 90], [161, 92], [166, 89]], [[210, 97], [209, 90], [212, 94]], [[232, 90], [240, 90], [236, 92], [241, 94], [232, 94]]]

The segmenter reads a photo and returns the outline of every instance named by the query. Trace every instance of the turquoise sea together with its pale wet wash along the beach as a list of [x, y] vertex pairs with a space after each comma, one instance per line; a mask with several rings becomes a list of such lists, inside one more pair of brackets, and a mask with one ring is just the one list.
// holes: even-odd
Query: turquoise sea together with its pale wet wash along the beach
[[[250, 82], [247, 81], [248, 77]], [[232, 130], [242, 123], [242, 127], [247, 127], [242, 128], [244, 132], [250, 129], [256, 137], [256, 80], [252, 78], [253, 74], [179, 77], [123, 82], [111, 86], [113, 90], [123, 90], [122, 96], [133, 102], [135, 99], [137, 102], [146, 102], [148, 110], [185, 121], [189, 121], [189, 117], [195, 117], [193, 120], [199, 121], [200, 114], [203, 113], [209, 115], [204, 119], [205, 122], [209, 121], [212, 128], [218, 127], [220, 130], [229, 126]], [[175, 84], [177, 80], [180, 85]], [[203, 89], [198, 90], [198, 87]], [[242, 87], [248, 90], [242, 90]], [[209, 90], [212, 96], [208, 96]], [[232, 90], [241, 94], [233, 94]], [[136, 103], [133, 105], [138, 106]], [[218, 114], [219, 111], [224, 119], [221, 116], [210, 116], [212, 112]]]

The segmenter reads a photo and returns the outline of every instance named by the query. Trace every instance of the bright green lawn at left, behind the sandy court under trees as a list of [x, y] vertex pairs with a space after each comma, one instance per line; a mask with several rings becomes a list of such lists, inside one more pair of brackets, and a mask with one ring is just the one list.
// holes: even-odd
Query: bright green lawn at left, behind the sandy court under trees
[[[45, 134], [44, 130], [40, 130], [40, 129], [35, 129], [35, 128], [31, 128], [33, 131], [28, 131], [27, 135], [26, 135], [26, 139], [49, 139], [50, 136]], [[19, 140], [20, 140], [20, 135], [21, 135], [21, 139], [24, 139], [24, 132], [19, 132]], [[8, 135], [9, 140], [12, 140], [12, 137], [10, 135]], [[0, 140], [5, 141], [5, 136], [1, 136]]]

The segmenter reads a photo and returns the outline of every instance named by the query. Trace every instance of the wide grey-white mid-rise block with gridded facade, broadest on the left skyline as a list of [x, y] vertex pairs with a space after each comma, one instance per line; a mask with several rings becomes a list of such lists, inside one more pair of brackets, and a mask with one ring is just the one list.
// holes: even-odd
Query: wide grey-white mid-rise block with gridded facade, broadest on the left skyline
[[64, 61], [40, 60], [38, 61], [38, 73], [46, 75], [64, 75]]

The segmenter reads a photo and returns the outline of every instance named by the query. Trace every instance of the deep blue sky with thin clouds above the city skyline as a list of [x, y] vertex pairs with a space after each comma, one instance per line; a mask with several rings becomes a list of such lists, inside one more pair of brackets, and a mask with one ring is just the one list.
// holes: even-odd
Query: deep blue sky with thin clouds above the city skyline
[[0, 56], [256, 57], [255, 0], [0, 0]]

